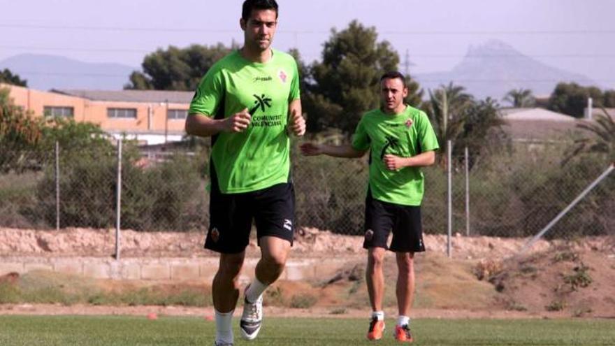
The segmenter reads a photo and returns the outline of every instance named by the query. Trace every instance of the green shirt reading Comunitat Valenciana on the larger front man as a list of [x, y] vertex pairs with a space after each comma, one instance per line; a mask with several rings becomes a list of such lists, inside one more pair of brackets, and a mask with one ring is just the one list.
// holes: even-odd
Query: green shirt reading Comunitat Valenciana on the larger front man
[[210, 164], [224, 194], [252, 192], [289, 181], [289, 103], [299, 99], [294, 58], [272, 50], [264, 63], [250, 62], [237, 50], [205, 74], [189, 113], [215, 119], [247, 108], [252, 120], [240, 133], [212, 136]]

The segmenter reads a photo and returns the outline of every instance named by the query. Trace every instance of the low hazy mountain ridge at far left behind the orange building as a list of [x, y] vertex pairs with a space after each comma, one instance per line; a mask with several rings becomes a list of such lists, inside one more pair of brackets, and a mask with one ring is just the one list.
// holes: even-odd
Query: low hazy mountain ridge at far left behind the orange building
[[33, 89], [104, 89], [119, 90], [136, 70], [122, 64], [89, 63], [56, 55], [15, 55], [0, 61], [0, 69], [9, 69], [28, 81]]

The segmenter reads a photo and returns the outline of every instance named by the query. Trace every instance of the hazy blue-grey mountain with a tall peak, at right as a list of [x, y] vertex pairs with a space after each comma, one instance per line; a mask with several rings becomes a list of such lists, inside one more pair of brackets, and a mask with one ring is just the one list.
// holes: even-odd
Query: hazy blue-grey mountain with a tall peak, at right
[[414, 76], [424, 89], [454, 82], [479, 99], [491, 96], [501, 101], [511, 89], [531, 89], [534, 95], [553, 92], [558, 82], [596, 85], [584, 75], [556, 69], [521, 54], [502, 41], [470, 46], [461, 63], [448, 72], [419, 73]]

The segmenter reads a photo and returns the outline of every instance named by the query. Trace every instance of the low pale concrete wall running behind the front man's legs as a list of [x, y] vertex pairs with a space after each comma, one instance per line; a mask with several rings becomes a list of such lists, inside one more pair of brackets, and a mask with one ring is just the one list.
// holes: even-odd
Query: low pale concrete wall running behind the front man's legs
[[[324, 279], [352, 260], [355, 259], [290, 259], [280, 279]], [[249, 281], [254, 277], [257, 261], [256, 258], [245, 259], [240, 280]], [[115, 261], [98, 257], [0, 257], [0, 275], [52, 271], [98, 279], [211, 281], [217, 268], [217, 258], [128, 258]]]

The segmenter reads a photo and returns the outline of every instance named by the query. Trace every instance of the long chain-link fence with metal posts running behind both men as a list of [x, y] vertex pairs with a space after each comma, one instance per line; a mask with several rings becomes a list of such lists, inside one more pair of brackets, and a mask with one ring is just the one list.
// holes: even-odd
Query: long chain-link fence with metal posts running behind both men
[[[121, 228], [204, 231], [209, 219], [208, 150], [146, 153], [133, 145], [124, 148]], [[441, 153], [437, 164], [424, 168], [426, 233], [447, 232], [445, 156]], [[116, 147], [59, 148], [57, 159], [54, 151], [3, 152], [0, 160], [0, 226], [115, 228]], [[469, 236], [533, 236], [610, 164], [591, 156], [579, 157], [565, 166], [560, 162], [560, 151], [551, 152], [546, 147], [535, 152], [527, 145], [489, 159], [452, 157], [453, 232]], [[366, 158], [302, 157], [294, 150], [293, 177], [298, 226], [349, 235], [362, 233]], [[614, 193], [615, 174], [611, 174], [547, 237], [612, 235]]]

